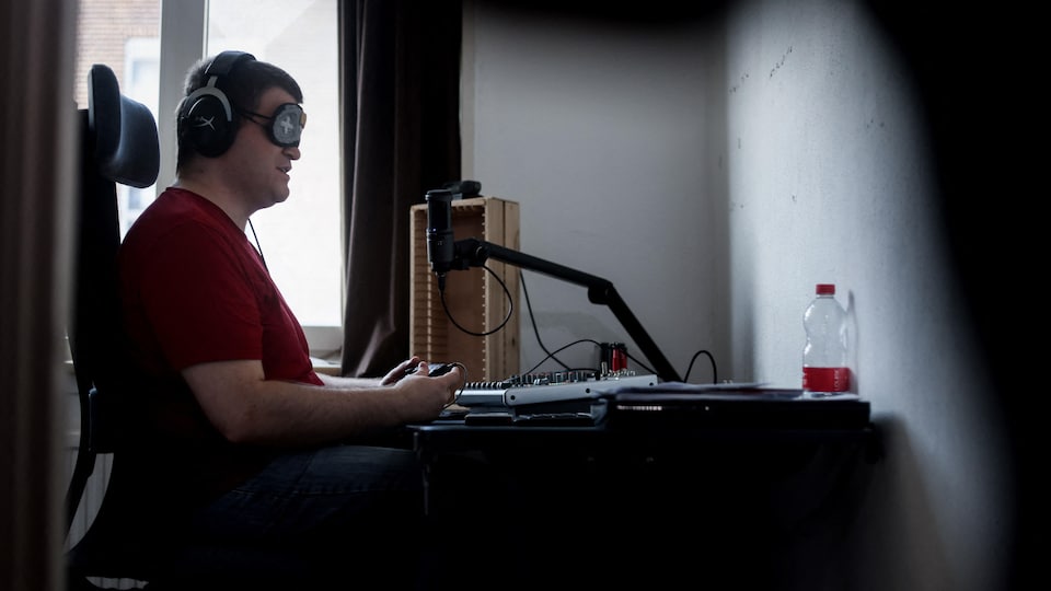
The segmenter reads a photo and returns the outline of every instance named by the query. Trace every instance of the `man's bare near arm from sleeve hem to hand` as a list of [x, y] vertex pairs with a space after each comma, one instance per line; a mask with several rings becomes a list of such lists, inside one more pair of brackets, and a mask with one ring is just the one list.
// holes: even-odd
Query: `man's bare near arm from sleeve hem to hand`
[[437, 378], [417, 372], [392, 385], [316, 386], [266, 380], [258, 360], [199, 363], [183, 376], [223, 437], [274, 445], [328, 443], [431, 420], [454, 399], [463, 380], [457, 368]]

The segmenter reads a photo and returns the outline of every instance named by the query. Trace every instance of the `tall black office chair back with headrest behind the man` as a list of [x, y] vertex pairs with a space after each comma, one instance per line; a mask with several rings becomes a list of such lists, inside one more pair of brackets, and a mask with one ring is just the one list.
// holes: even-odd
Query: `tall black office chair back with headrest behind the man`
[[80, 398], [81, 436], [67, 490], [66, 531], [72, 523], [95, 454], [115, 450], [124, 429], [118, 412], [122, 389], [120, 306], [117, 248], [120, 220], [117, 187], [149, 187], [160, 170], [157, 121], [146, 105], [120, 94], [113, 70], [92, 66], [88, 108], [81, 117], [81, 182], [74, 219], [76, 252], [71, 322], [68, 331]]

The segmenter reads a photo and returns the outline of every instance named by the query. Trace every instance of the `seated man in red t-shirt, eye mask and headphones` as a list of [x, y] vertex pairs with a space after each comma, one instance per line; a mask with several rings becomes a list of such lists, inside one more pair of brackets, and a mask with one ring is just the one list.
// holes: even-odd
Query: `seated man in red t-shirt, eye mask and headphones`
[[417, 357], [379, 380], [313, 371], [245, 234], [253, 213], [289, 196], [302, 92], [276, 66], [226, 51], [190, 69], [185, 95], [177, 178], [119, 254], [148, 417], [132, 462], [155, 495], [151, 528], [219, 547], [289, 549], [319, 576], [373, 567], [391, 583], [412, 579], [405, 561], [424, 519], [415, 454], [348, 442], [438, 417], [463, 374], [429, 376]]

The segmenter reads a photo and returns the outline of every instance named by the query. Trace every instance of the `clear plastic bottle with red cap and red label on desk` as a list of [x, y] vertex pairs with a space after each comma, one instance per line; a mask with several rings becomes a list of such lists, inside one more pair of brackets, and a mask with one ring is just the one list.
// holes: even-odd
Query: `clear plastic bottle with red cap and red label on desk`
[[846, 311], [835, 300], [834, 283], [818, 283], [802, 314], [807, 346], [802, 349], [802, 390], [810, 397], [851, 391]]

